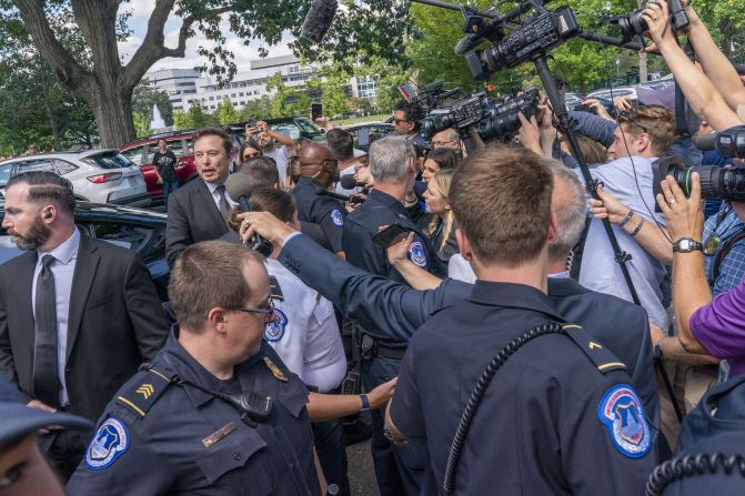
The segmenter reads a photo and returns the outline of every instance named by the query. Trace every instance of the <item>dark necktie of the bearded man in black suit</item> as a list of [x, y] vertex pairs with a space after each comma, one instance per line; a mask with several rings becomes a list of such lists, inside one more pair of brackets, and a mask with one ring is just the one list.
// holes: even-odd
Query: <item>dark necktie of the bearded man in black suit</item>
[[41, 272], [37, 277], [36, 318], [33, 321], [33, 395], [37, 399], [58, 406], [60, 379], [57, 375], [57, 297], [54, 274], [50, 266], [52, 255], [41, 259]]

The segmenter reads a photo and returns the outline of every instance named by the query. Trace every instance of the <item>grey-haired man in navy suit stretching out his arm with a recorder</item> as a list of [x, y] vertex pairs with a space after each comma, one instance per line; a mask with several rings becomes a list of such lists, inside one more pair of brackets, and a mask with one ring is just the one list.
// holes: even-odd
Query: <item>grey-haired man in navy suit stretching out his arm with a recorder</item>
[[[548, 297], [567, 322], [582, 325], [624, 362], [647, 415], [658, 425], [660, 406], [646, 312], [618, 297], [586, 290], [568, 279], [567, 255], [584, 229], [584, 191], [576, 176], [560, 163], [552, 172], [555, 183], [552, 210], [558, 221], [558, 237], [550, 246]], [[266, 213], [248, 216], [246, 224], [275, 246], [283, 246], [279, 261], [303, 283], [329, 298], [344, 315], [354, 316], [363, 325], [374, 324], [404, 342], [434, 312], [469, 297], [473, 287], [461, 281], [440, 282], [435, 277], [430, 284], [432, 289], [413, 290], [328, 256], [312, 246], [310, 240], [292, 234], [290, 227]], [[427, 274], [423, 270], [420, 273]]]

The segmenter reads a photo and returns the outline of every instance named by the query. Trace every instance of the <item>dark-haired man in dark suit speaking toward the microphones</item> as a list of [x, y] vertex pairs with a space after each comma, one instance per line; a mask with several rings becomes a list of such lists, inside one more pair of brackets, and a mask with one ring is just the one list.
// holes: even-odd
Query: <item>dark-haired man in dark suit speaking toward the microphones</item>
[[225, 191], [225, 180], [232, 172], [230, 135], [205, 128], [197, 131], [193, 139], [199, 178], [169, 198], [165, 256], [171, 266], [187, 246], [225, 234], [230, 210], [238, 205]]

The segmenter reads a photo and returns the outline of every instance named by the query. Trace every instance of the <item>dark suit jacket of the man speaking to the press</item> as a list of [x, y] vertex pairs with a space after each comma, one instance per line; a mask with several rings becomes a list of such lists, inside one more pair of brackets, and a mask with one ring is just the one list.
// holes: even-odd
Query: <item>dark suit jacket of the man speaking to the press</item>
[[217, 240], [226, 232], [228, 224], [201, 179], [190, 181], [168, 198], [165, 256], [171, 266], [187, 246]]

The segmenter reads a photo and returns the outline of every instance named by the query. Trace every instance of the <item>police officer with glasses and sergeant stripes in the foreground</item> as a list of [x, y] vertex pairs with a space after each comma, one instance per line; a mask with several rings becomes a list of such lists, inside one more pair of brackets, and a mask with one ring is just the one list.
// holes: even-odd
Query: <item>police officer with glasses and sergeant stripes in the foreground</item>
[[194, 244], [169, 293], [179, 325], [114, 395], [68, 492], [316, 496], [308, 389], [262, 342], [273, 308], [261, 256]]

